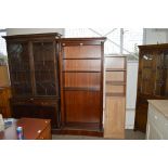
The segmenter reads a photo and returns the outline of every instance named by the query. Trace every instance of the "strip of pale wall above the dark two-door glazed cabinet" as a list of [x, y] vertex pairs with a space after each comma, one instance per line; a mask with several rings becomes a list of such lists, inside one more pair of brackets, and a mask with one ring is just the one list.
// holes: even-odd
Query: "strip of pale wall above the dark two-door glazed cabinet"
[[59, 33], [64, 35], [64, 28], [7, 28], [7, 36], [44, 33]]

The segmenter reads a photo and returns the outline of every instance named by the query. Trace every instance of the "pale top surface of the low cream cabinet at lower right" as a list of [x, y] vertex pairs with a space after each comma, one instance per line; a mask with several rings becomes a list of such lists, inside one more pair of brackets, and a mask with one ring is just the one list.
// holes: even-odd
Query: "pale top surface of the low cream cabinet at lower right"
[[168, 100], [148, 100], [148, 104], [168, 118]]

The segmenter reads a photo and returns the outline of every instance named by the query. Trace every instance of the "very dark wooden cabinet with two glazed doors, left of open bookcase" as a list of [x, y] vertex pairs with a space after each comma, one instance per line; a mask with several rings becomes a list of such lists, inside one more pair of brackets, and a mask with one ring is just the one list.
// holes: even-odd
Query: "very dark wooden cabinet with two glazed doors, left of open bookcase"
[[7, 36], [12, 116], [49, 118], [59, 126], [59, 34]]

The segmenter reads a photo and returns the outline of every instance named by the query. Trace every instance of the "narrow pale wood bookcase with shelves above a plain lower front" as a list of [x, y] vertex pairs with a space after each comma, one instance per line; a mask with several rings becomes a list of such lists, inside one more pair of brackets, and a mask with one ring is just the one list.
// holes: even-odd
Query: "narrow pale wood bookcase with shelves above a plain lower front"
[[104, 138], [125, 138], [127, 59], [105, 57]]

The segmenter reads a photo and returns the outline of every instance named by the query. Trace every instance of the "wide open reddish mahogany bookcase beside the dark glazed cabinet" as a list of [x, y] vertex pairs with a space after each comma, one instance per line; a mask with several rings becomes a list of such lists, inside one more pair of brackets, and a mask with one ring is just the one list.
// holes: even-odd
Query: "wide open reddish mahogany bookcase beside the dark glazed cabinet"
[[61, 39], [63, 130], [102, 131], [105, 38]]

